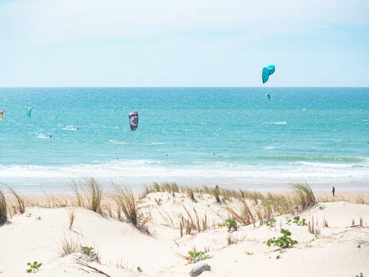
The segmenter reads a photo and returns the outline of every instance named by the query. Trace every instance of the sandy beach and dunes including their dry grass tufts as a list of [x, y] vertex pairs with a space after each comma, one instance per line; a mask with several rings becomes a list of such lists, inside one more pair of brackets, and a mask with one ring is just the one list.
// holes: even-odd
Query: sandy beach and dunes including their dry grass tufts
[[[220, 188], [217, 194], [214, 188], [164, 184], [135, 194], [133, 220], [122, 209], [133, 204], [133, 194], [117, 187], [98, 200], [95, 185], [81, 186], [79, 196], [17, 194], [23, 213], [15, 195], [6, 193], [0, 276], [27, 276], [27, 263], [33, 262], [42, 263], [38, 276], [189, 276], [200, 263], [211, 268], [201, 276], [369, 272], [367, 192], [333, 197], [329, 191], [261, 194]], [[222, 226], [227, 220], [236, 226], [230, 232]], [[268, 240], [283, 236], [282, 229], [296, 244], [268, 246]], [[189, 251], [204, 260], [190, 263]]]

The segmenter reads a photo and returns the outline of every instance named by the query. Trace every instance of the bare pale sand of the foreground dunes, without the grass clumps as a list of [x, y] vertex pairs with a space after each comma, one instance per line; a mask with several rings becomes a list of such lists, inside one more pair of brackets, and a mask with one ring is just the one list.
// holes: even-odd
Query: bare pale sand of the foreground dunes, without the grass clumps
[[[236, 231], [228, 232], [227, 227], [218, 224], [231, 217], [226, 207], [240, 210], [241, 202], [231, 197], [219, 204], [205, 193], [195, 194], [195, 202], [186, 193], [173, 196], [170, 192], [149, 193], [139, 200], [142, 216], [150, 215], [150, 234], [81, 207], [28, 207], [0, 226], [0, 276], [28, 276], [26, 264], [34, 261], [43, 263], [36, 276], [189, 276], [193, 264], [180, 255], [187, 255], [193, 248], [210, 255], [202, 261], [211, 266], [211, 271], [200, 275], [204, 277], [355, 277], [360, 272], [369, 276], [369, 205], [345, 201], [355, 202], [357, 193], [339, 195], [333, 199], [317, 193], [319, 201], [337, 201], [320, 202], [297, 213], [306, 223], [312, 225], [314, 220], [314, 233], [309, 226], [287, 224], [286, 217], [292, 219], [296, 214], [275, 214], [274, 226], [260, 226], [258, 221], [255, 227], [238, 223]], [[368, 194], [362, 196], [369, 199]], [[247, 203], [253, 206], [251, 200]], [[75, 220], [69, 229], [71, 209]], [[181, 237], [179, 215], [189, 219], [190, 214], [195, 219], [195, 211], [198, 225], [206, 230], [191, 230], [190, 234], [183, 230]], [[360, 218], [362, 226], [348, 227], [360, 225]], [[283, 250], [268, 247], [267, 240], [281, 236], [281, 228], [290, 230], [298, 244]], [[63, 240], [77, 245], [74, 253], [61, 256]], [[89, 261], [94, 256], [83, 254], [82, 246], [93, 247], [99, 261]], [[77, 261], [88, 262], [101, 272]]]

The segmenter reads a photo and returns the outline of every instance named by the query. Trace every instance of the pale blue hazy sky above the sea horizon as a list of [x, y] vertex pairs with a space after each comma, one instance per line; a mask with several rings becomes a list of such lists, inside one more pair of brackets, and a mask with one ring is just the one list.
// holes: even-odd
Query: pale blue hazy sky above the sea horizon
[[0, 0], [0, 87], [369, 86], [368, 11], [367, 0]]

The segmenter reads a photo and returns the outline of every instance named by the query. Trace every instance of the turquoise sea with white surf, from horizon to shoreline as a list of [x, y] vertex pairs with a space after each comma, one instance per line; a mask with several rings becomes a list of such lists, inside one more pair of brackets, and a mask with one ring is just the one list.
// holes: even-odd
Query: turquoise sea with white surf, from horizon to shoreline
[[0, 88], [0, 182], [367, 182], [368, 98], [369, 88]]

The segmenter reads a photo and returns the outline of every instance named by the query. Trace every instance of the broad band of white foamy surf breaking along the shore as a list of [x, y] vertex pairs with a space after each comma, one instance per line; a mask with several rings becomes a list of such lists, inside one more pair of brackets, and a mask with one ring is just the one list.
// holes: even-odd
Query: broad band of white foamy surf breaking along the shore
[[[97, 162], [97, 161], [95, 161]], [[112, 161], [94, 164], [64, 166], [0, 166], [0, 176], [4, 183], [24, 184], [25, 179], [33, 184], [60, 184], [85, 177], [111, 180], [129, 180], [130, 182], [178, 181], [196, 182], [214, 180], [216, 182], [361, 182], [368, 180], [369, 171], [351, 165], [322, 163], [303, 164], [303, 166], [284, 165], [240, 165], [203, 163], [193, 161], [192, 165], [176, 165], [160, 161], [134, 160]], [[69, 181], [68, 181], [69, 180]]]

